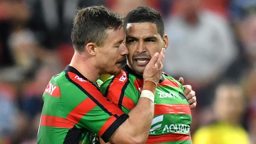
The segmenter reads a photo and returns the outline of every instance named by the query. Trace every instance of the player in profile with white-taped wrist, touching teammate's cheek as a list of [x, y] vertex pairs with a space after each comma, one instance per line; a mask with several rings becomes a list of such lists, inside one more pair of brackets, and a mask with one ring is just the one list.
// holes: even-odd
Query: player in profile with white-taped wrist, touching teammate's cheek
[[80, 144], [88, 131], [105, 142], [145, 143], [154, 114], [154, 94], [165, 50], [155, 53], [143, 74], [137, 106], [125, 114], [100, 92], [101, 74], [118, 75], [128, 54], [122, 18], [103, 6], [78, 11], [72, 30], [74, 55], [63, 72], [53, 76], [43, 94], [39, 144]]

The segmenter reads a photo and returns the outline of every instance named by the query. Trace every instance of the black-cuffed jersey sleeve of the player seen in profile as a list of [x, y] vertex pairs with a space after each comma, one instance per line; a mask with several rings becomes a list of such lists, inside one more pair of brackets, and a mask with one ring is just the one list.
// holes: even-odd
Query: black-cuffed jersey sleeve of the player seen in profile
[[[108, 139], [128, 118], [128, 115], [117, 105], [109, 102], [94, 83], [81, 79], [72, 72], [68, 72], [66, 75], [69, 81], [75, 85], [76, 90], [74, 91], [80, 90], [83, 93], [73, 94], [80, 97], [80, 100], [83, 99], [69, 112], [67, 119], [76, 124], [78, 128], [89, 129], [108, 142]], [[71, 101], [70, 103], [72, 103]]]

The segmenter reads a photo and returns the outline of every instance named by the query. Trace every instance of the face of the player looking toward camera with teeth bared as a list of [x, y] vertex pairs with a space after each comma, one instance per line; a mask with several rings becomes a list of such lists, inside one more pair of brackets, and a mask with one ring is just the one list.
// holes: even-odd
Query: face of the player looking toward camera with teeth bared
[[129, 54], [127, 64], [139, 75], [143, 75], [145, 66], [151, 57], [167, 48], [167, 35], [158, 33], [156, 24], [152, 22], [128, 23], [126, 26], [126, 46]]

